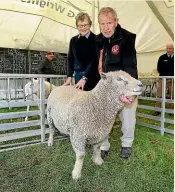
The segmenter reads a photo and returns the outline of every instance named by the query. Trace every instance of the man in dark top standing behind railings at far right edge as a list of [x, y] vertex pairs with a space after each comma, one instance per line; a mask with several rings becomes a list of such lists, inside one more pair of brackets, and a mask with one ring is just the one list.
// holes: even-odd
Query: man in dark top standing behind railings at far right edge
[[[157, 71], [159, 76], [174, 76], [174, 45], [169, 43], [166, 45], [166, 53], [159, 57], [157, 63]], [[166, 80], [166, 88], [170, 95], [174, 97], [174, 85], [172, 84], [172, 79]], [[157, 97], [162, 97], [162, 79], [159, 79]], [[157, 101], [155, 107], [161, 107], [160, 101]], [[171, 104], [171, 109], [174, 108], [174, 104]], [[159, 115], [159, 111], [154, 112], [154, 116]]]

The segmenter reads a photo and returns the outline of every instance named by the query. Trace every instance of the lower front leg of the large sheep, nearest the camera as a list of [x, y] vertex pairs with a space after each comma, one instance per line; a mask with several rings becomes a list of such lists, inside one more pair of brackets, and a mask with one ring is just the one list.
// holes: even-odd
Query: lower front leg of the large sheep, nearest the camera
[[74, 180], [77, 180], [81, 177], [81, 170], [83, 167], [84, 157], [85, 155], [76, 154], [76, 161], [75, 161], [74, 169], [72, 171], [72, 178]]

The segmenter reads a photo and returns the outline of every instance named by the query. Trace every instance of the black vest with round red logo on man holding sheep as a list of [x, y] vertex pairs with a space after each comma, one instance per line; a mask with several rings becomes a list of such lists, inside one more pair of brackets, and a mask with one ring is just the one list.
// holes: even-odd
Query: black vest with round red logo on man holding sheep
[[119, 24], [111, 38], [105, 38], [102, 33], [97, 36], [98, 57], [100, 50], [104, 49], [103, 72], [123, 70], [138, 79], [135, 39], [135, 34], [121, 28]]

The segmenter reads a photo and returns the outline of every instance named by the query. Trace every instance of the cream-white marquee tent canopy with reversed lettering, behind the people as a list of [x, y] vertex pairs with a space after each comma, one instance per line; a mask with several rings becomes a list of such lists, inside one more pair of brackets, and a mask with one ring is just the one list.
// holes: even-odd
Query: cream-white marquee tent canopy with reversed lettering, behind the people
[[122, 27], [137, 34], [139, 72], [151, 72], [174, 41], [174, 1], [0, 0], [0, 47], [67, 53], [77, 34], [75, 16], [89, 13], [99, 33], [101, 7], [113, 7]]

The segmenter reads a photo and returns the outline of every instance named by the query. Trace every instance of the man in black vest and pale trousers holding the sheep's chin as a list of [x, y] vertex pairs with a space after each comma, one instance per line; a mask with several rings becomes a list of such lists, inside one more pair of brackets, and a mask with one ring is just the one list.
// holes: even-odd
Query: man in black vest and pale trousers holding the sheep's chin
[[[137, 79], [136, 35], [121, 28], [115, 10], [110, 7], [104, 7], [99, 11], [98, 22], [101, 30], [97, 36], [99, 72], [123, 70]], [[123, 133], [120, 157], [127, 159], [131, 155], [134, 140], [137, 99], [135, 96], [130, 98], [121, 96], [120, 99], [126, 103], [120, 113]], [[107, 139], [101, 146], [102, 158], [108, 155], [109, 147]]]

